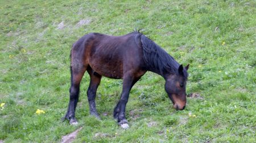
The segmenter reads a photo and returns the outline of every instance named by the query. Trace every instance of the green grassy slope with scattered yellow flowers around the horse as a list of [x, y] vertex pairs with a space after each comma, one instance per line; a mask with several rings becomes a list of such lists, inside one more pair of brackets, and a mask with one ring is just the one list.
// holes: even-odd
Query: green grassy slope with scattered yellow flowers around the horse
[[[0, 1], [0, 142], [256, 142], [255, 1]], [[89, 115], [81, 83], [78, 126], [61, 122], [69, 101], [69, 52], [89, 32], [143, 29], [181, 64], [191, 64], [183, 111], [147, 72], [131, 90], [130, 129], [112, 112], [122, 80], [103, 78]], [[44, 113], [36, 114], [37, 110]]]

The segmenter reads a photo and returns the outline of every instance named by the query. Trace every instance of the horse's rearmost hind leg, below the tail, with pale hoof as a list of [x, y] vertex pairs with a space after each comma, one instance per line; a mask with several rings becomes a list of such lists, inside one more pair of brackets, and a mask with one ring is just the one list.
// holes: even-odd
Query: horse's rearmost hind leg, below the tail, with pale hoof
[[75, 118], [76, 105], [79, 100], [79, 89], [82, 76], [86, 67], [82, 64], [76, 64], [71, 66], [71, 87], [69, 88], [69, 104], [67, 114], [64, 116], [63, 120], [68, 119], [70, 124], [77, 124]]

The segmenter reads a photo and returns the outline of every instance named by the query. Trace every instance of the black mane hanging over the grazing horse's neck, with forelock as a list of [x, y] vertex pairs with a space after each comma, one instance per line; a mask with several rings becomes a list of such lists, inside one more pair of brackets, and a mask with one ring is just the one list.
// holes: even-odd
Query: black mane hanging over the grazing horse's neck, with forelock
[[[177, 63], [176, 60], [160, 46], [156, 45], [154, 41], [150, 40], [142, 33], [138, 34], [141, 34], [143, 59], [146, 66], [153, 71], [160, 72], [161, 75], [166, 72], [177, 74], [177, 68], [180, 66], [180, 64]], [[184, 72], [185, 77], [187, 77], [186, 73], [187, 72]]]

